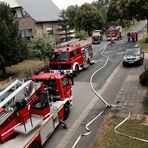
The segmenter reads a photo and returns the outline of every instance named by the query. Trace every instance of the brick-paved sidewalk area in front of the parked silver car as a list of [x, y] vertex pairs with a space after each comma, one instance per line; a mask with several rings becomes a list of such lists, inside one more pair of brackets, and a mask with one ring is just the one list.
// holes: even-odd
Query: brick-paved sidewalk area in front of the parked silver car
[[147, 63], [148, 53], [145, 53], [145, 62], [142, 66], [124, 68], [120, 64], [106, 82], [107, 87], [102, 92], [103, 98], [111, 104], [127, 106], [132, 114], [142, 113], [142, 100], [147, 90], [141, 86], [139, 75], [144, 71]]

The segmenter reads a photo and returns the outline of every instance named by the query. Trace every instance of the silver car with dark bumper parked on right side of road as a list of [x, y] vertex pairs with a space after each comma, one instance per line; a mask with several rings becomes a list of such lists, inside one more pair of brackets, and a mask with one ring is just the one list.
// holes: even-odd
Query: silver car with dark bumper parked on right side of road
[[142, 65], [144, 61], [144, 52], [141, 46], [135, 45], [132, 48], [128, 48], [125, 51], [123, 57], [123, 66], [138, 64]]

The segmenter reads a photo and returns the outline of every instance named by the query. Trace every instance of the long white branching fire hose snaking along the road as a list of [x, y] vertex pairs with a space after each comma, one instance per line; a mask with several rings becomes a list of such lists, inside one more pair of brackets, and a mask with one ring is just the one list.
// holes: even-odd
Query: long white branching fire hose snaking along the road
[[[141, 37], [142, 37], [142, 36], [141, 36]], [[92, 84], [93, 77], [95, 76], [95, 74], [96, 74], [97, 72], [99, 72], [100, 70], [102, 70], [103, 68], [105, 68], [106, 65], [108, 64], [109, 57], [107, 57], [106, 55], [104, 55], [104, 51], [105, 51], [105, 49], [106, 49], [106, 46], [109, 45], [109, 44], [110, 44], [110, 43], [107, 43], [107, 44], [104, 46], [104, 48], [102, 49], [102, 52], [101, 52], [101, 56], [106, 59], [105, 64], [104, 64], [101, 68], [97, 69], [97, 70], [92, 74], [92, 76], [91, 76], [91, 78], [90, 78], [90, 86], [91, 86], [92, 91], [94, 92], [94, 94], [95, 94], [99, 99], [102, 100], [102, 102], [105, 104], [105, 107], [104, 107], [104, 109], [103, 109], [95, 118], [93, 118], [89, 123], [87, 123], [87, 124], [85, 125], [85, 129], [86, 129], [87, 132], [84, 133], [84, 134], [81, 134], [81, 135], [77, 138], [77, 140], [76, 140], [75, 143], [73, 144], [72, 148], [75, 148], [75, 147], [76, 147], [76, 145], [78, 144], [78, 142], [80, 141], [80, 139], [81, 139], [82, 137], [88, 136], [89, 134], [91, 134], [91, 130], [89, 129], [89, 126], [90, 126], [97, 118], [99, 118], [99, 117], [105, 112], [105, 110], [106, 110], [107, 108], [110, 108], [110, 107], [119, 107], [119, 108], [121, 108], [121, 109], [124, 109], [124, 110], [127, 110], [127, 111], [128, 111], [127, 117], [126, 117], [122, 122], [120, 122], [116, 127], [114, 127], [114, 132], [115, 132], [115, 133], [117, 133], [118, 135], [124, 136], [124, 137], [128, 137], [128, 138], [131, 138], [131, 139], [134, 139], [134, 140], [138, 140], [138, 141], [142, 141], [142, 142], [148, 143], [148, 140], [146, 140], [146, 139], [142, 139], [142, 138], [130, 136], [130, 135], [121, 133], [121, 132], [119, 132], [119, 131], [117, 130], [121, 125], [123, 125], [123, 124], [130, 118], [130, 116], [131, 116], [131, 111], [130, 111], [127, 107], [125, 107], [125, 106], [120, 106], [120, 105], [116, 105], [116, 104], [109, 104], [99, 93], [97, 93], [97, 91], [96, 91], [96, 90], [94, 89], [94, 87], [93, 87], [93, 84]]]

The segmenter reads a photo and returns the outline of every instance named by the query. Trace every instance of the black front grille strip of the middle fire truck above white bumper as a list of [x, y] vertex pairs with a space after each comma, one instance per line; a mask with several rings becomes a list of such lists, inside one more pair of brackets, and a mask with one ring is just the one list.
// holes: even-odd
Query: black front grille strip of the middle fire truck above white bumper
[[50, 69], [65, 70], [65, 69], [71, 69], [71, 66], [70, 64], [50, 64]]

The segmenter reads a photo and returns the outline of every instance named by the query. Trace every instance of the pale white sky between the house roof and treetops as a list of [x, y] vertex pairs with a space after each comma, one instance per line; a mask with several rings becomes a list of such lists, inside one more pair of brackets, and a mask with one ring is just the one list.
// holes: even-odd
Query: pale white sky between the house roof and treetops
[[91, 3], [94, 0], [52, 0], [59, 9], [66, 9], [70, 5], [82, 5], [84, 3]]

